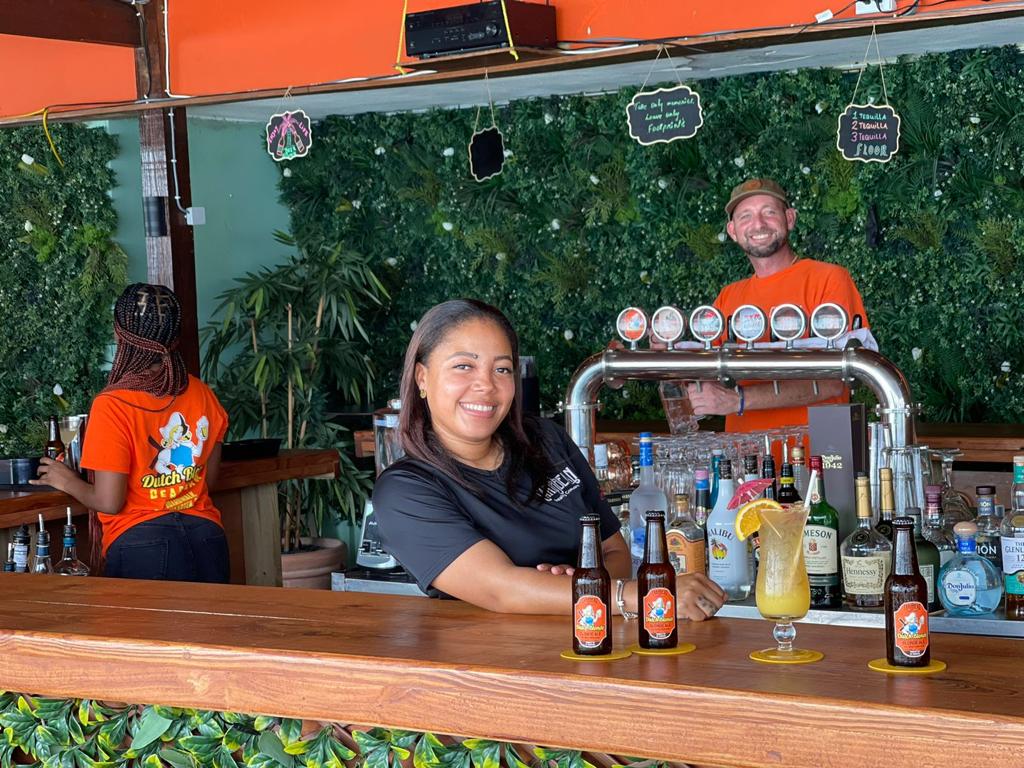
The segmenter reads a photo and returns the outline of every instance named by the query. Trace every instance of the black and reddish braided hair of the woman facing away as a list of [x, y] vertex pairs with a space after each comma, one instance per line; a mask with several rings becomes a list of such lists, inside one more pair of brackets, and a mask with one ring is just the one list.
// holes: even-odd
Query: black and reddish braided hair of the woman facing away
[[118, 350], [103, 391], [181, 394], [188, 386], [188, 371], [178, 351], [180, 333], [181, 304], [171, 289], [147, 283], [128, 286], [114, 305]]

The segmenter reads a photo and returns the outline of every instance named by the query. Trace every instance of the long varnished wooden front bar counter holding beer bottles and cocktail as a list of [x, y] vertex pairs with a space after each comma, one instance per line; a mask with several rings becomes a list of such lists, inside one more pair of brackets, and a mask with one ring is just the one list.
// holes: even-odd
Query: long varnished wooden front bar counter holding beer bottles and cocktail
[[[555, 577], [552, 577], [555, 578]], [[1021, 641], [933, 637], [948, 669], [867, 669], [884, 632], [684, 625], [697, 650], [572, 663], [567, 616], [422, 598], [0, 574], [0, 686], [381, 725], [715, 766], [1024, 766]], [[614, 621], [616, 647], [635, 626]]]

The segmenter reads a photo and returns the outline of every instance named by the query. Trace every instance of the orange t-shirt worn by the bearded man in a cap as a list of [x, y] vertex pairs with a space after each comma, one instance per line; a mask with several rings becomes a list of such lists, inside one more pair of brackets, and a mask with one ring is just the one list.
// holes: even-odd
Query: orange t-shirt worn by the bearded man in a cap
[[[767, 315], [770, 315], [771, 310], [779, 304], [796, 304], [809, 318], [816, 307], [826, 302], [843, 307], [851, 323], [855, 316], [860, 315], [861, 327], [868, 328], [864, 302], [853, 284], [850, 272], [838, 264], [812, 259], [798, 259], [785, 269], [767, 278], [753, 275], [731, 283], [723, 288], [715, 299], [715, 306], [728, 319], [743, 304], [754, 304], [763, 309]], [[766, 331], [761, 341], [769, 341], [769, 334], [770, 332]], [[759, 382], [740, 383], [745, 385]], [[849, 401], [850, 394], [846, 392], [814, 404], [826, 406]], [[807, 406], [748, 411], [742, 416], [730, 414], [725, 417], [725, 429], [728, 432], [755, 432], [806, 423]]]

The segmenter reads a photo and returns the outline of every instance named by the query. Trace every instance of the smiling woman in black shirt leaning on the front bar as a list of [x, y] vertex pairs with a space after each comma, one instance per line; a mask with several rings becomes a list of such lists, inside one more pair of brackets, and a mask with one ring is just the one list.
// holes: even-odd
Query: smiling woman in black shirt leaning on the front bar
[[[501, 612], [564, 613], [582, 515], [600, 516], [613, 579], [629, 577], [630, 555], [580, 450], [523, 417], [518, 346], [505, 315], [479, 301], [423, 316], [401, 379], [406, 458], [378, 478], [374, 514], [421, 588]], [[677, 586], [680, 616], [699, 621], [724, 601], [698, 574]], [[634, 608], [635, 582], [625, 597]]]

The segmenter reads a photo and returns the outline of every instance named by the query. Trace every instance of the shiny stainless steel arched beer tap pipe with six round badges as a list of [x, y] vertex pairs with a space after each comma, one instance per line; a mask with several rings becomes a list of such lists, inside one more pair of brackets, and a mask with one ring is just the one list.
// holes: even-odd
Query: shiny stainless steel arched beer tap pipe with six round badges
[[589, 455], [594, 445], [597, 394], [603, 386], [621, 387], [629, 379], [659, 381], [783, 381], [842, 379], [865, 384], [879, 398], [879, 416], [889, 424], [893, 446], [912, 443], [910, 388], [889, 358], [860, 346], [846, 349], [711, 350], [606, 349], [577, 369], [565, 392], [565, 428]]

